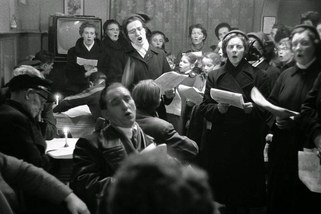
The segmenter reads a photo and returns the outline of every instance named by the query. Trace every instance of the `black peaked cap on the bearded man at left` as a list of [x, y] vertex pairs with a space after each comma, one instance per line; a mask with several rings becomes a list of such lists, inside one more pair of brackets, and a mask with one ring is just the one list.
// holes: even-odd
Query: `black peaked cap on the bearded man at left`
[[48, 103], [55, 102], [54, 96], [50, 92], [53, 82], [38, 76], [22, 74], [13, 77], [4, 87], [9, 87], [10, 91], [33, 88], [39, 90], [42, 97], [47, 99]]

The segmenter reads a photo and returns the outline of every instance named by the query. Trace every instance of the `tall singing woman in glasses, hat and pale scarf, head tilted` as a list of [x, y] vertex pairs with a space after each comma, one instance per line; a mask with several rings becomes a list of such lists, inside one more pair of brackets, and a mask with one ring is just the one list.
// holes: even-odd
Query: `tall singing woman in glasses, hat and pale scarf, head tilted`
[[[134, 14], [123, 22], [124, 32], [130, 47], [123, 53], [114, 56], [108, 73], [107, 84], [121, 82], [129, 90], [134, 88], [140, 80], [157, 79], [163, 73], [171, 71], [166, 54], [148, 43], [146, 38], [146, 22], [149, 17], [146, 15]], [[169, 104], [172, 101], [174, 90], [165, 92], [164, 102]], [[167, 119], [164, 102], [158, 107], [158, 114], [161, 119]]]

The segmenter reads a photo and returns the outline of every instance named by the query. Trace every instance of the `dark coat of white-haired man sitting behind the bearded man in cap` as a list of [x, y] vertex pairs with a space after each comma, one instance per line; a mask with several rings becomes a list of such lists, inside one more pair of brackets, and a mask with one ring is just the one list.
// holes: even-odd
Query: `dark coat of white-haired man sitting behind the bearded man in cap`
[[[9, 88], [0, 88], [0, 106], [10, 97]], [[52, 106], [53, 103], [45, 103], [43, 110], [41, 111], [42, 123], [46, 124], [43, 125], [46, 127], [46, 130], [43, 133], [46, 140], [52, 140], [57, 137], [57, 120], [54, 117]]]

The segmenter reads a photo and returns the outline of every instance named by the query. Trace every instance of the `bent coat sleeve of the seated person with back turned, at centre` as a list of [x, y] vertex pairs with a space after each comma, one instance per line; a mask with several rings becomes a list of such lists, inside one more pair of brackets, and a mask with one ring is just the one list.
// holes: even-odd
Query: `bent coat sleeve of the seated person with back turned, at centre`
[[166, 143], [168, 153], [173, 157], [190, 159], [198, 153], [197, 144], [188, 137], [179, 135], [171, 124], [164, 128], [161, 136], [162, 139], [155, 140]]

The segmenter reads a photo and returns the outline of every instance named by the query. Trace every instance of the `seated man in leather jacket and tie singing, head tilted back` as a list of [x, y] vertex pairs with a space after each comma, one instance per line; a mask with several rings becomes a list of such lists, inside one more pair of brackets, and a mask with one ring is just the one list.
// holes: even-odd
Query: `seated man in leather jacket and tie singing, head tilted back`
[[91, 213], [106, 213], [101, 200], [126, 156], [139, 153], [153, 143], [135, 123], [135, 103], [122, 84], [113, 83], [104, 88], [99, 104], [110, 125], [77, 141], [70, 181], [71, 189]]

